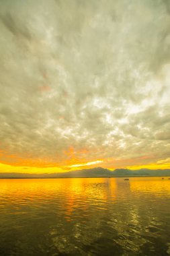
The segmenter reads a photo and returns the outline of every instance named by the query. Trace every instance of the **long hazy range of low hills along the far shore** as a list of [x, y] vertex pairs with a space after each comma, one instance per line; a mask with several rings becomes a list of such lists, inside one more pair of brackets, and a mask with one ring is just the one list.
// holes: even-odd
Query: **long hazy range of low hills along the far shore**
[[145, 177], [145, 176], [170, 176], [170, 169], [166, 170], [129, 170], [129, 169], [116, 169], [108, 170], [105, 168], [97, 167], [83, 170], [71, 170], [69, 172], [59, 173], [44, 173], [44, 174], [29, 174], [17, 172], [0, 172], [0, 179], [28, 179], [28, 178], [90, 178], [90, 177]]

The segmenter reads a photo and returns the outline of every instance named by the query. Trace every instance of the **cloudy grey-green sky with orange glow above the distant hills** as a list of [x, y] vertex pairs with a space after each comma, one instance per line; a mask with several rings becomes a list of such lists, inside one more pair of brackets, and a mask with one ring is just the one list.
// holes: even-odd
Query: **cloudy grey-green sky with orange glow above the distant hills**
[[170, 168], [169, 0], [0, 1], [0, 171]]

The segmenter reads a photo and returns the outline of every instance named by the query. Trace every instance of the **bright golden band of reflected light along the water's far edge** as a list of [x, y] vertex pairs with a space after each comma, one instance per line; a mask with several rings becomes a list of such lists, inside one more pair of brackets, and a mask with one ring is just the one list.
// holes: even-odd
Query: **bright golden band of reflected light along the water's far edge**
[[43, 197], [44, 195], [60, 195], [61, 191], [69, 191], [69, 204], [74, 204], [81, 195], [84, 199], [115, 200], [118, 193], [127, 191], [170, 194], [169, 177], [134, 177], [129, 181], [124, 178], [75, 178], [75, 179], [0, 179], [1, 196], [11, 195], [15, 198]]

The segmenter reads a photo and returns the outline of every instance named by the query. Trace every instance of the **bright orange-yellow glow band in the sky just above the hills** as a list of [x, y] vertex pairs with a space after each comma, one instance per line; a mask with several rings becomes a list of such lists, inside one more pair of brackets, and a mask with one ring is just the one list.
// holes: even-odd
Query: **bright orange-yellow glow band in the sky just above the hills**
[[[63, 153], [63, 152], [62, 152]], [[140, 156], [138, 158], [98, 158], [94, 159], [93, 151], [89, 152], [85, 148], [75, 150], [72, 146], [58, 156], [57, 162], [54, 159], [43, 158], [36, 159], [22, 158], [15, 154], [7, 154], [7, 151], [1, 151], [0, 172], [21, 172], [21, 173], [54, 173], [68, 172], [70, 170], [81, 170], [84, 168], [102, 167], [109, 170], [116, 168], [128, 168], [138, 170], [141, 168], [148, 169], [170, 169], [170, 158], [155, 160], [153, 156]], [[154, 161], [155, 160], [155, 161]]]

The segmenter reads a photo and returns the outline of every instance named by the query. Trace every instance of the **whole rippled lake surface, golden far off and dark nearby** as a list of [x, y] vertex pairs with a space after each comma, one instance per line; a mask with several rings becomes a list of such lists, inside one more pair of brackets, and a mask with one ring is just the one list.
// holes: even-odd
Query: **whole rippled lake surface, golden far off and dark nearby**
[[0, 179], [0, 255], [170, 255], [170, 179]]

